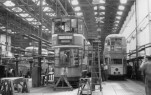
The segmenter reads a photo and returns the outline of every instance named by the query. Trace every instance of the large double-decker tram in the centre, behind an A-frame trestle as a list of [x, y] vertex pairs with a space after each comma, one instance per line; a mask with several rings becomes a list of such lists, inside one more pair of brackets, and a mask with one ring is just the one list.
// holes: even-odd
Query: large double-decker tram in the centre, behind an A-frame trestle
[[82, 18], [56, 17], [52, 23], [52, 48], [55, 51], [55, 81], [61, 75], [73, 86], [82, 75], [84, 58], [85, 26]]

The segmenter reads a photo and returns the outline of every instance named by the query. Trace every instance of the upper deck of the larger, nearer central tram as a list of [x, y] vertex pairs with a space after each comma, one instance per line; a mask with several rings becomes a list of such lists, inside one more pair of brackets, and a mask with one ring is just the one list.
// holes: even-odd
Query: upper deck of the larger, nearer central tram
[[53, 48], [84, 47], [85, 25], [82, 18], [75, 16], [56, 17], [52, 21]]

